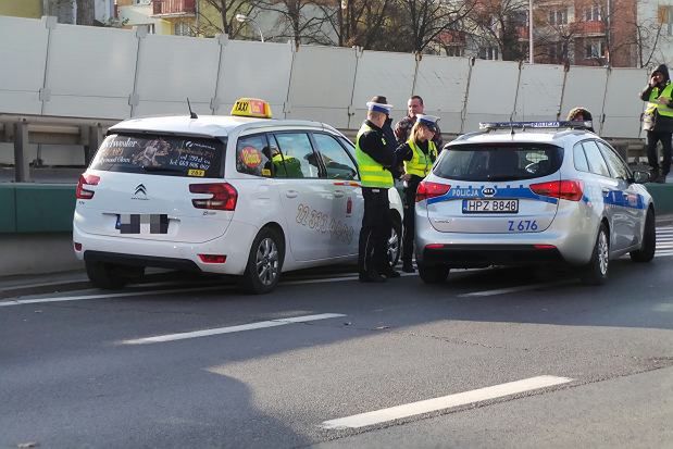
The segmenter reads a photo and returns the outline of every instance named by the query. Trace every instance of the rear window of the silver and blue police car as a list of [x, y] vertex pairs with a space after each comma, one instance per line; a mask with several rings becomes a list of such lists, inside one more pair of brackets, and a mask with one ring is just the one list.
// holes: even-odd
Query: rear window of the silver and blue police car
[[561, 167], [563, 149], [535, 144], [465, 144], [444, 151], [433, 170], [459, 180], [518, 180], [550, 175]]

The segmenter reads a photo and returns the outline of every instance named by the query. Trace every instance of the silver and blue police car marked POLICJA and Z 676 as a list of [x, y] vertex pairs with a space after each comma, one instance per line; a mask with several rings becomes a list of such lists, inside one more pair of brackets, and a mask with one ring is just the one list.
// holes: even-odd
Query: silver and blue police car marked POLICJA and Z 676
[[563, 262], [587, 284], [610, 260], [655, 255], [655, 203], [589, 123], [488, 123], [450, 142], [419, 186], [416, 261], [426, 283], [451, 267]]

